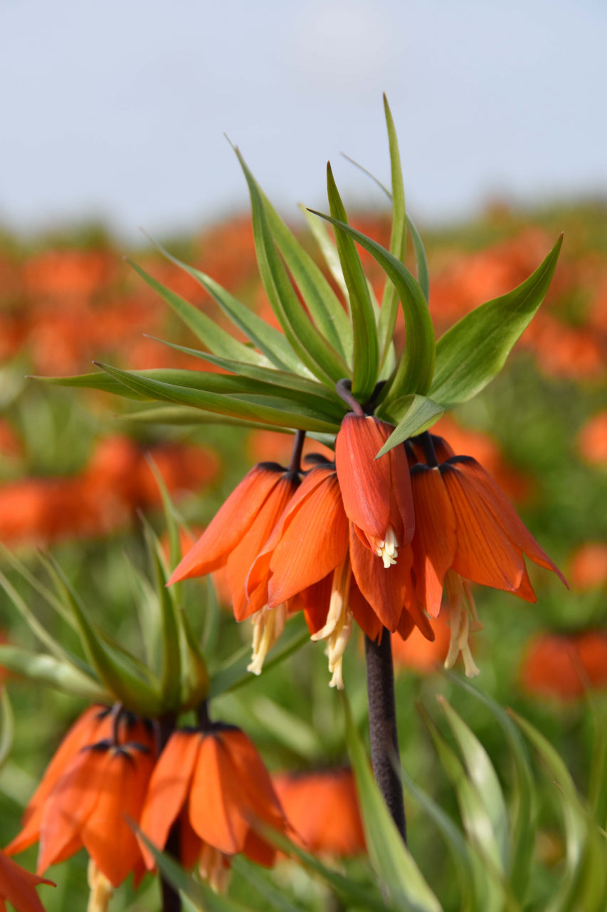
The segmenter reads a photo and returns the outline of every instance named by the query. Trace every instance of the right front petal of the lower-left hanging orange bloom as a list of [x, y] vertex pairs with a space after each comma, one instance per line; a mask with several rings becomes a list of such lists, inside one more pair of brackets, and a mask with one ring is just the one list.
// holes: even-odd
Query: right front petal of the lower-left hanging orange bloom
[[139, 748], [112, 748], [98, 801], [80, 834], [99, 871], [113, 886], [129, 876], [139, 857], [139, 844], [129, 819], [139, 823], [154, 760]]

